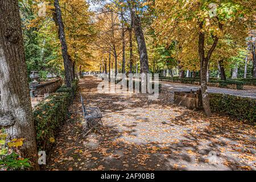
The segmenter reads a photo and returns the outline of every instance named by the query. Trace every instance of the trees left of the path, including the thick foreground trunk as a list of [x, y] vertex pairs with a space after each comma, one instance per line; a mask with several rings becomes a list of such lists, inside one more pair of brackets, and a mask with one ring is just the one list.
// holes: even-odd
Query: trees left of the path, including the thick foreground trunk
[[64, 67], [65, 83], [71, 87], [90, 57], [94, 29], [88, 7], [82, 0], [0, 2], [0, 128], [9, 140], [25, 139], [20, 153], [31, 160], [32, 169], [39, 166], [27, 68]]

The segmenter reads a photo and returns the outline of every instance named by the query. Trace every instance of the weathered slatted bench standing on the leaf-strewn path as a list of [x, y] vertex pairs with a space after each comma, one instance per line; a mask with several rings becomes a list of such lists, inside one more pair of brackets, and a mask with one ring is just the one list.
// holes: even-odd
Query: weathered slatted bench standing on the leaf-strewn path
[[85, 136], [90, 133], [93, 129], [98, 131], [100, 134], [103, 135], [103, 133], [99, 130], [99, 127], [102, 126], [102, 114], [98, 107], [85, 107], [84, 105], [84, 99], [81, 95], [81, 103], [82, 103], [82, 113], [84, 114], [85, 119]]

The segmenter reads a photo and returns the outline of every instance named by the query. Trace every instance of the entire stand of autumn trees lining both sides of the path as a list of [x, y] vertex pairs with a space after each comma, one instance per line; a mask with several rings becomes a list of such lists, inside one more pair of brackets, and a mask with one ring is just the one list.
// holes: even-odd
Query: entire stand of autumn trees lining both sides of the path
[[63, 71], [68, 87], [82, 70], [100, 69], [109, 78], [111, 70], [114, 76], [138, 69], [147, 74], [178, 68], [180, 77], [186, 70], [200, 72], [207, 115], [210, 69], [225, 79], [225, 70], [232, 68], [236, 77], [239, 63], [246, 60], [256, 77], [252, 1], [96, 2], [103, 6], [91, 11], [84, 0], [0, 1], [0, 127], [11, 138], [26, 138], [22, 154], [34, 169], [27, 69]]

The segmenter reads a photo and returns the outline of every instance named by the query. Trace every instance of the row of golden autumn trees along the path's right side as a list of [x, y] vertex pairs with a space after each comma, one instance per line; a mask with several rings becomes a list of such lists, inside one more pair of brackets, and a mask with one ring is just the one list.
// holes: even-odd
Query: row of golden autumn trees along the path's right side
[[[169, 70], [177, 67], [180, 77], [184, 77], [186, 70], [193, 72], [193, 76], [199, 72], [207, 115], [211, 115], [207, 93], [210, 69], [217, 69], [222, 80], [226, 80], [225, 69], [232, 69], [230, 76], [236, 78], [238, 65], [243, 62], [246, 76], [250, 59], [251, 76], [256, 77], [255, 18], [251, 1], [120, 0], [105, 5], [102, 14], [98, 16], [100, 24], [104, 20], [104, 28], [98, 28], [97, 46], [101, 48], [98, 51], [102, 51], [102, 57], [113, 51], [115, 75], [117, 44], [122, 53], [119, 62], [122, 73], [133, 67], [133, 57], [130, 65], [125, 63], [125, 50], [132, 51], [131, 56], [138, 55], [141, 73], [156, 72], [157, 67]], [[108, 17], [112, 20], [106, 20]], [[138, 51], [132, 45], [124, 48], [126, 42], [133, 40], [133, 35], [123, 33], [125, 26], [126, 30], [133, 28]], [[104, 61], [101, 65], [104, 67]]]

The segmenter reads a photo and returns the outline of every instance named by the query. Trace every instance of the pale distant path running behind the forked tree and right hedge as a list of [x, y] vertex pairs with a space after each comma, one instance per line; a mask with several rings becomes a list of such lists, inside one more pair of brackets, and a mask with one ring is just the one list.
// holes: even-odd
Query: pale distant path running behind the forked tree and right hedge
[[[160, 81], [160, 82], [162, 83], [163, 86], [167, 87], [171, 92], [190, 91], [191, 89], [194, 91], [200, 88], [199, 85], [180, 84], [180, 83], [168, 82], [168, 81]], [[230, 94], [233, 96], [256, 98], [256, 89], [236, 90], [236, 89], [226, 89], [226, 88], [208, 86], [208, 92], [224, 93], [224, 94]]]

